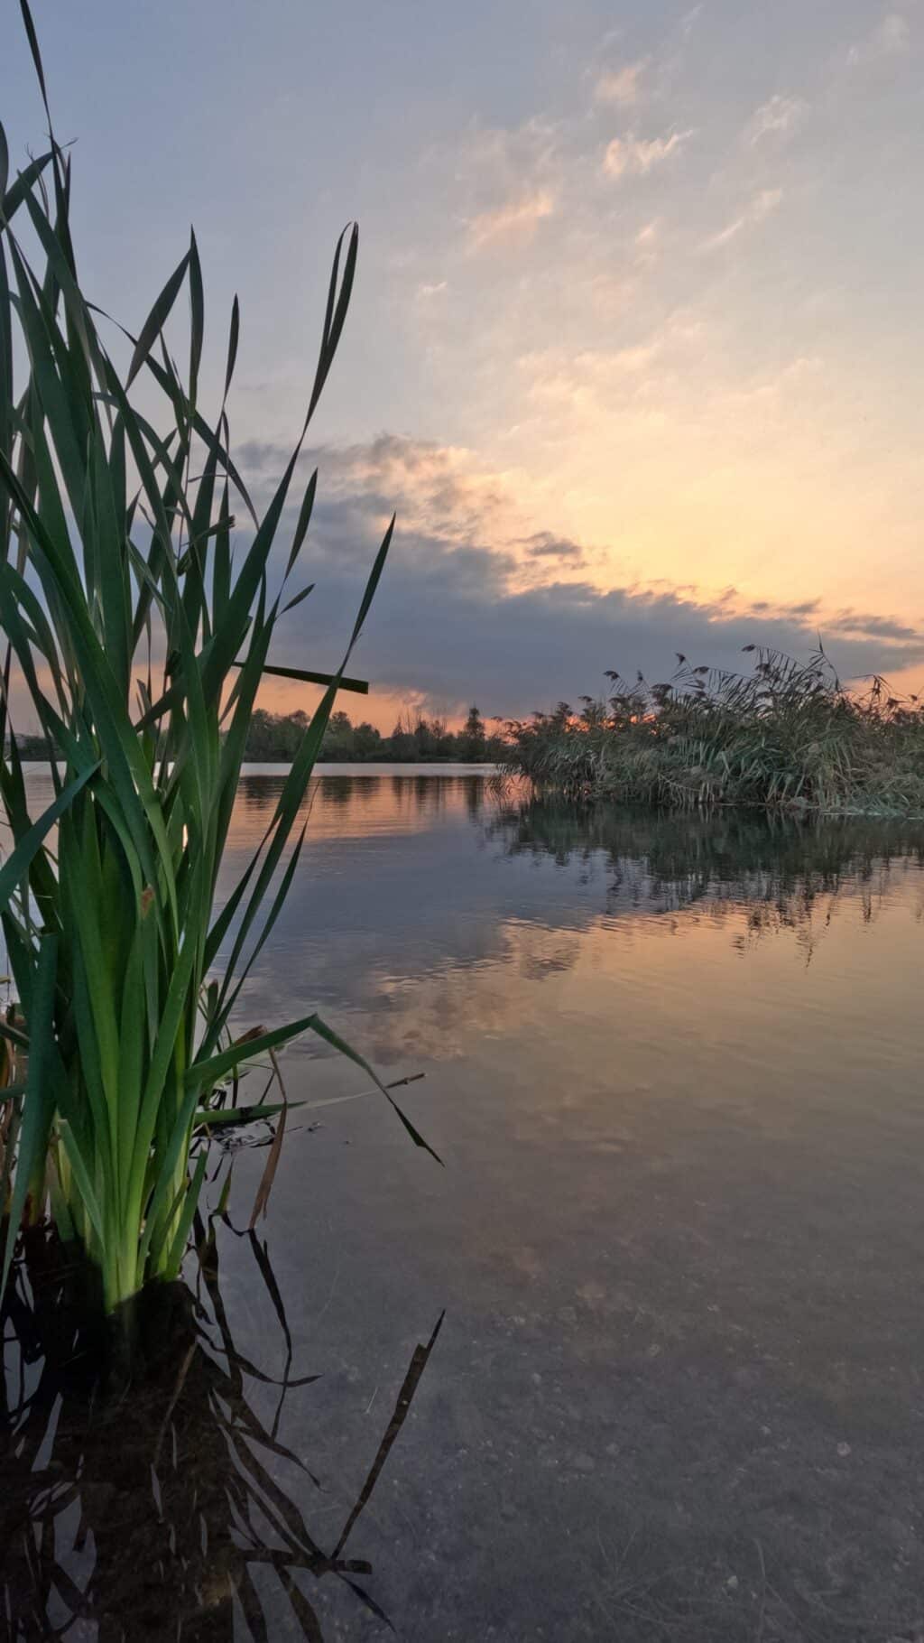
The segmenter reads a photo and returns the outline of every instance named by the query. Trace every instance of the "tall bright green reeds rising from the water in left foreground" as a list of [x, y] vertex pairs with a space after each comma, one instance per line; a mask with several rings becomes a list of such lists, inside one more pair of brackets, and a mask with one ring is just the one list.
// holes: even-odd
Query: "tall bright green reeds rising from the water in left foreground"
[[[48, 113], [25, 0], [23, 20]], [[317, 473], [300, 496], [290, 491], [346, 319], [358, 230], [336, 245], [302, 432], [258, 513], [230, 453], [236, 299], [208, 412], [195, 237], [138, 332], [121, 332], [80, 283], [71, 156], [51, 113], [48, 123], [48, 150], [16, 176], [0, 135], [0, 802], [11, 836], [0, 917], [20, 1001], [0, 1020], [15, 1052], [0, 1089], [3, 1278], [23, 1216], [51, 1201], [113, 1309], [179, 1272], [205, 1173], [204, 1148], [190, 1165], [194, 1137], [222, 1122], [222, 1081], [243, 1061], [313, 1032], [374, 1078], [315, 1014], [236, 1038], [231, 1020], [299, 868], [302, 800], [336, 695], [366, 688], [345, 669], [394, 519], [338, 672], [282, 670], [323, 685], [323, 697], [263, 841], [217, 912], [256, 693], [281, 672], [274, 629], [310, 593], [294, 578]], [[166, 325], [182, 294], [181, 370]], [[13, 697], [28, 698], [61, 751], [41, 815]]]

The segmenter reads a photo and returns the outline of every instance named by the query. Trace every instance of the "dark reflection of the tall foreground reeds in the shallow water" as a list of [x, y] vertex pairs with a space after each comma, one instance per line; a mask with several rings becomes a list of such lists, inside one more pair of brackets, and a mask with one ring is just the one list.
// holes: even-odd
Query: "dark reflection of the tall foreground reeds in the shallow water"
[[[310, 1595], [320, 1579], [345, 1582], [351, 1600], [387, 1625], [363, 1584], [371, 1566], [350, 1556], [346, 1543], [441, 1319], [415, 1347], [366, 1482], [325, 1549], [295, 1498], [317, 1480], [277, 1436], [287, 1392], [317, 1377], [289, 1374], [282, 1300], [253, 1236], [287, 1344], [284, 1378], [272, 1382], [238, 1351], [215, 1239], [199, 1231], [195, 1290], [161, 1285], [144, 1296], [144, 1372], [120, 1383], [112, 1374], [103, 1378], [100, 1341], [85, 1332], [80, 1273], [62, 1270], [59, 1245], [44, 1229], [28, 1234], [2, 1314], [0, 1635], [10, 1643], [269, 1643], [279, 1636], [281, 1610], [286, 1636], [320, 1643]], [[248, 1380], [279, 1387], [269, 1426], [246, 1397]]]

